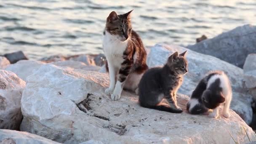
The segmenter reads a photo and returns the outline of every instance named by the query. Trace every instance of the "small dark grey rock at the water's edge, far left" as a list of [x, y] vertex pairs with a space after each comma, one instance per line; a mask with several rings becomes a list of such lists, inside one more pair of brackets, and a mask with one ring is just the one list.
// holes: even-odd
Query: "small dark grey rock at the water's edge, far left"
[[10, 61], [11, 64], [16, 63], [20, 60], [28, 60], [27, 56], [23, 53], [23, 51], [17, 51], [14, 53], [6, 53], [3, 56], [6, 57]]

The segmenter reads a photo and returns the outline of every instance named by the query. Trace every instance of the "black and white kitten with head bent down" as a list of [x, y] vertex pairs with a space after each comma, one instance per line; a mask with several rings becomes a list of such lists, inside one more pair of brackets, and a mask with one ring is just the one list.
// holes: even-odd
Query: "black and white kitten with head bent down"
[[219, 106], [224, 103], [222, 113], [224, 117], [230, 117], [231, 100], [232, 88], [229, 78], [222, 71], [213, 71], [198, 83], [187, 103], [187, 111], [192, 115], [198, 115], [213, 109], [209, 117], [218, 117]]

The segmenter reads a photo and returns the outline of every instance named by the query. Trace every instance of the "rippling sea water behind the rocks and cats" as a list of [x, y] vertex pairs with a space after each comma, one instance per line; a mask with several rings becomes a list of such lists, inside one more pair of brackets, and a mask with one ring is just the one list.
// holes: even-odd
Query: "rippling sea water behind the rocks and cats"
[[2, 0], [0, 53], [32, 59], [53, 54], [103, 53], [102, 32], [111, 11], [134, 9], [133, 29], [144, 45], [194, 44], [243, 24], [255, 24], [256, 0]]

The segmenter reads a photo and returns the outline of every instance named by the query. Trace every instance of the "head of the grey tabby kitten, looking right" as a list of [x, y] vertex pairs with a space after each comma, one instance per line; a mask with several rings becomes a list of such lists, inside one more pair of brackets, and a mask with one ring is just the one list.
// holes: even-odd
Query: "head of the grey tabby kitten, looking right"
[[176, 75], [185, 75], [188, 72], [188, 62], [186, 59], [187, 51], [179, 54], [177, 51], [169, 56], [167, 61], [167, 66]]

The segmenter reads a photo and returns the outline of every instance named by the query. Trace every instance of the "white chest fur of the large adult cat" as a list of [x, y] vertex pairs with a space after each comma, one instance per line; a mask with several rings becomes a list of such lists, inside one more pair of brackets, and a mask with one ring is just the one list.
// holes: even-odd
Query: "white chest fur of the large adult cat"
[[121, 42], [120, 40], [117, 40], [115, 36], [110, 35], [107, 31], [103, 36], [103, 49], [109, 62], [122, 63], [124, 61], [123, 53], [127, 48], [127, 45], [127, 40], [125, 42]]

